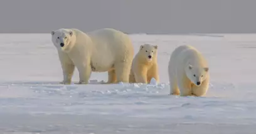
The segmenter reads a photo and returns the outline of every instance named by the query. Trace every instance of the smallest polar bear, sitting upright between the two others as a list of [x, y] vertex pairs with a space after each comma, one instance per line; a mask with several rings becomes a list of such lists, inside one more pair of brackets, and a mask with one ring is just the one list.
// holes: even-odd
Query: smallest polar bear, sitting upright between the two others
[[129, 83], [150, 83], [155, 78], [159, 83], [157, 45], [142, 44], [132, 61]]

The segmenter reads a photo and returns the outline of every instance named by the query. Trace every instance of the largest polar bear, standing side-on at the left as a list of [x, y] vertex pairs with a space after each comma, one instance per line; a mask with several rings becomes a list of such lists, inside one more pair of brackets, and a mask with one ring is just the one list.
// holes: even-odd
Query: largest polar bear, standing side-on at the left
[[108, 71], [107, 83], [129, 82], [134, 48], [127, 34], [110, 28], [89, 33], [57, 29], [51, 36], [63, 70], [61, 83], [71, 83], [75, 67], [80, 79], [77, 84], [87, 84], [92, 71]]

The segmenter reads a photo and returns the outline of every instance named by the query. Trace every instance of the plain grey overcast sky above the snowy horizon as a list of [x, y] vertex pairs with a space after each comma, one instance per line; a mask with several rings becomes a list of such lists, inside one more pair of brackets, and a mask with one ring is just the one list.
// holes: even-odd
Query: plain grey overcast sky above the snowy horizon
[[0, 33], [256, 33], [256, 0], [0, 0]]

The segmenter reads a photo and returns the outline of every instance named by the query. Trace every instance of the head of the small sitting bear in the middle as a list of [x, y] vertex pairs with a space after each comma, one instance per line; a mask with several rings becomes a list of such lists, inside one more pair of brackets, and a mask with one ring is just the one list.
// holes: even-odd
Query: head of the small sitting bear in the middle
[[147, 61], [152, 61], [152, 59], [156, 59], [157, 46], [151, 44], [142, 44], [139, 49], [139, 54]]

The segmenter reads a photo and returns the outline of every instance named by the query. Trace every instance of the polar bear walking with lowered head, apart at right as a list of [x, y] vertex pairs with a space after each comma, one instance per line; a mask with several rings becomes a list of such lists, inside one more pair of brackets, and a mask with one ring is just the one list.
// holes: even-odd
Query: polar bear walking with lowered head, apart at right
[[169, 60], [170, 94], [203, 96], [209, 86], [208, 63], [203, 55], [189, 45], [174, 49]]

